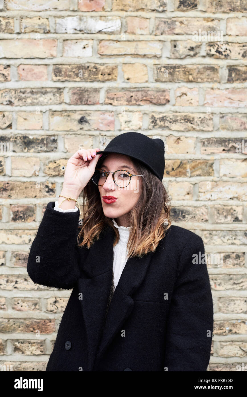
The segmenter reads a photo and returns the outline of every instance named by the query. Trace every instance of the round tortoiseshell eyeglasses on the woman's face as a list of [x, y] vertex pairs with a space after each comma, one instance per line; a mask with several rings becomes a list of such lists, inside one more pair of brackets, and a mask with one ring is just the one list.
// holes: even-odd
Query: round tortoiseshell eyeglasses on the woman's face
[[114, 183], [116, 183], [116, 185], [119, 187], [128, 186], [133, 176], [143, 176], [131, 174], [126, 170], [117, 170], [112, 172], [105, 171], [102, 168], [95, 168], [95, 172], [92, 176], [93, 183], [95, 183], [97, 186], [103, 186], [110, 173], [112, 173], [112, 179], [114, 180]]

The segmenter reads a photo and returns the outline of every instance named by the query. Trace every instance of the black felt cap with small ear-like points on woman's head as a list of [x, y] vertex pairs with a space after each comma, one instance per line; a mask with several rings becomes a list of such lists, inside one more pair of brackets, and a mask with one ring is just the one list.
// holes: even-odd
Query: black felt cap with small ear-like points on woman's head
[[105, 150], [97, 154], [110, 152], [125, 154], [141, 161], [162, 181], [165, 170], [165, 145], [162, 139], [151, 139], [139, 132], [125, 132], [113, 138]]

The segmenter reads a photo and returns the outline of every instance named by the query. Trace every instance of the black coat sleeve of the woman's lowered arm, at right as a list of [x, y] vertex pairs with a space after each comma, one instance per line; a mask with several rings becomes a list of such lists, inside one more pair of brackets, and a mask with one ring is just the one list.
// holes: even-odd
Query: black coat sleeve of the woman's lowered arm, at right
[[201, 258], [203, 241], [195, 236], [180, 255], [167, 323], [164, 371], [206, 371], [209, 364], [213, 299], [206, 260]]

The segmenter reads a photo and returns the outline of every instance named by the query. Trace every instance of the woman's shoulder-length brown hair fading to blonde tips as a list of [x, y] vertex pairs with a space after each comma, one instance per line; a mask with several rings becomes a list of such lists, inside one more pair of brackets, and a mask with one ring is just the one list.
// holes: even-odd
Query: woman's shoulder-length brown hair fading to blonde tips
[[[139, 175], [139, 199], [126, 214], [130, 227], [129, 240], [127, 243], [127, 258], [132, 256], [143, 256], [148, 252], [156, 250], [159, 241], [165, 237], [167, 230], [171, 227], [170, 210], [171, 204], [167, 191], [161, 180], [154, 175], [143, 163], [131, 156], [127, 156], [133, 162], [135, 171]], [[95, 168], [101, 168], [104, 158], [100, 158]], [[124, 189], [124, 188], [123, 188]], [[78, 246], [90, 248], [95, 240], [100, 238], [101, 231], [110, 226], [114, 232], [115, 246], [119, 241], [118, 229], [114, 226], [112, 218], [105, 216], [101, 204], [99, 188], [92, 179], [80, 194], [83, 203], [82, 225], [78, 237]], [[80, 242], [80, 239], [82, 241]]]

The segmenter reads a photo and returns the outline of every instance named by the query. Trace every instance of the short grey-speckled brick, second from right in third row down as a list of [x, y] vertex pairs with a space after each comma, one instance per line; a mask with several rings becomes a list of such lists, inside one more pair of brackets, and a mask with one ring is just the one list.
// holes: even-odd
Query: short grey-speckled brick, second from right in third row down
[[184, 59], [199, 56], [200, 50], [201, 43], [195, 43], [193, 40], [171, 40], [170, 58]]

